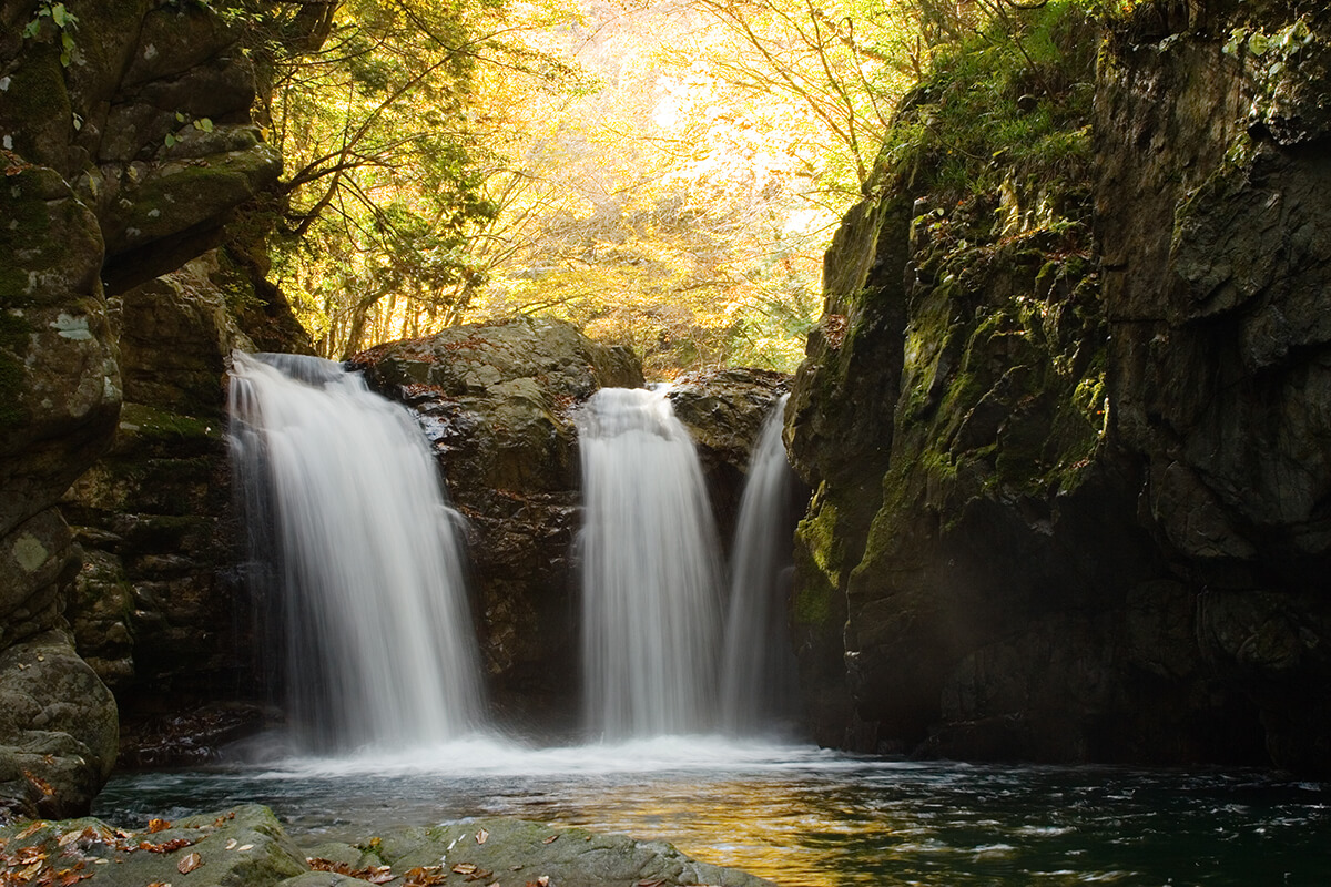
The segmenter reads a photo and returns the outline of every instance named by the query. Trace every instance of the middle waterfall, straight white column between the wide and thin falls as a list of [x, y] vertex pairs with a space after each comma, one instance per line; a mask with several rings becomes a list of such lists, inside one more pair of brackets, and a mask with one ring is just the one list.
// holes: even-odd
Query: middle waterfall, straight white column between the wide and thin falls
[[606, 738], [715, 723], [716, 529], [663, 391], [603, 388], [578, 418], [587, 722]]

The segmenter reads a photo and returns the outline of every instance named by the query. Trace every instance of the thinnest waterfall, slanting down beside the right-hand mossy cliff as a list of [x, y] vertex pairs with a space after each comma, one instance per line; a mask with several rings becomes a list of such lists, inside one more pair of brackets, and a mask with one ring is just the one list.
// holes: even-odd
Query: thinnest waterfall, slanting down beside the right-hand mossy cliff
[[749, 457], [731, 556], [721, 718], [727, 729], [741, 734], [789, 714], [796, 686], [785, 622], [796, 488], [781, 443], [785, 402], [785, 396], [777, 400]]

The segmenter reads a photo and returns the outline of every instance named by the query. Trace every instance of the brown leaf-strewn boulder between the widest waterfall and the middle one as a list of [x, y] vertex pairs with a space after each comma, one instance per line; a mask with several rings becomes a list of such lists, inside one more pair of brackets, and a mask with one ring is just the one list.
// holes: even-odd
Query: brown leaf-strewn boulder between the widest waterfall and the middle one
[[351, 366], [417, 412], [467, 517], [475, 613], [500, 705], [558, 723], [578, 707], [572, 411], [602, 387], [642, 387], [642, 364], [568, 323], [522, 318], [383, 344]]

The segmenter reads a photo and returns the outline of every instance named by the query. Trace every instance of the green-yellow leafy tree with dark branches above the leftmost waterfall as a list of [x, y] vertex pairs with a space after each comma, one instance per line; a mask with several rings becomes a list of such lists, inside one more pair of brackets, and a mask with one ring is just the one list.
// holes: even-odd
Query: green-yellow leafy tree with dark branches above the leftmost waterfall
[[[556, 9], [500, 0], [302, 0], [250, 9], [269, 140], [286, 161], [273, 255], [326, 356], [455, 323], [483, 281], [471, 246], [498, 214], [479, 72], [571, 76], [512, 35]], [[397, 327], [397, 330], [395, 330]]]

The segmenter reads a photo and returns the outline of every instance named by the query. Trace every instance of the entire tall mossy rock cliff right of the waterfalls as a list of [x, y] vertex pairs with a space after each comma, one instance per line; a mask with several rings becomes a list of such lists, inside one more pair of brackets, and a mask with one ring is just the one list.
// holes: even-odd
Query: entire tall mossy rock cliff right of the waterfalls
[[[909, 97], [828, 253], [787, 427], [812, 717], [926, 754], [1326, 773], [1331, 23], [1036, 15], [1051, 53]], [[1036, 136], [958, 166], [970, 133], [921, 133], [982, 89]]]

